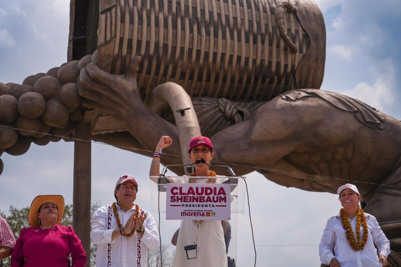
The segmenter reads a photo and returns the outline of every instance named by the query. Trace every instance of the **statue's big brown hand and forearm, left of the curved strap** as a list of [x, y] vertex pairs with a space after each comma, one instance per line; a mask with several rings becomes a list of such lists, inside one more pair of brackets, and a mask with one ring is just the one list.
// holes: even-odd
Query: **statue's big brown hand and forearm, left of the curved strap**
[[[111, 75], [95, 63], [88, 64], [80, 72], [79, 93], [83, 105], [99, 109], [127, 124], [128, 131], [147, 150], [153, 150], [160, 136], [168, 135], [178, 140], [174, 125], [152, 112], [139, 97], [136, 74], [141, 61], [135, 57], [124, 75]], [[168, 154], [180, 154], [179, 143], [170, 146]], [[169, 156], [167, 162], [174, 160]]]

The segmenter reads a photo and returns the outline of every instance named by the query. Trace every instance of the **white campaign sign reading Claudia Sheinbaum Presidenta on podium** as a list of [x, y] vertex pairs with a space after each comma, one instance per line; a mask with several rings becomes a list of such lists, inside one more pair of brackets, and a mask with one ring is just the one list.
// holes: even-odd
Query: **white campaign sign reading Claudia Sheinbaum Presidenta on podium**
[[167, 220], [229, 220], [230, 184], [168, 183]]

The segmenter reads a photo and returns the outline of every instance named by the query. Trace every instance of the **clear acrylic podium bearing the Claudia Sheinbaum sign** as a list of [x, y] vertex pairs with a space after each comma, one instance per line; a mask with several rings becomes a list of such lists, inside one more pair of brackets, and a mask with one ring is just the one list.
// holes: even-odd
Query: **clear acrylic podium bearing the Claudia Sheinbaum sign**
[[[208, 178], [216, 178], [216, 183], [207, 183]], [[163, 225], [163, 215], [160, 214], [161, 239], [173, 240], [173, 231], [166, 228], [171, 227], [168, 222], [181, 221], [179, 235], [186, 236], [180, 236], [179, 239], [185, 239], [186, 242], [178, 241], [177, 247], [173, 246], [173, 249], [179, 255], [183, 254], [180, 258], [186, 257], [187, 262], [190, 262], [183, 266], [208, 266], [209, 255], [205, 255], [203, 251], [216, 245], [214, 238], [219, 231], [224, 234], [226, 251], [209, 252], [219, 255], [227, 252], [228, 267], [236, 266], [237, 213], [244, 212], [244, 179], [230, 176], [150, 176], [152, 214], [156, 217], [159, 212], [165, 213], [166, 225]], [[215, 262], [210, 266], [216, 266]]]

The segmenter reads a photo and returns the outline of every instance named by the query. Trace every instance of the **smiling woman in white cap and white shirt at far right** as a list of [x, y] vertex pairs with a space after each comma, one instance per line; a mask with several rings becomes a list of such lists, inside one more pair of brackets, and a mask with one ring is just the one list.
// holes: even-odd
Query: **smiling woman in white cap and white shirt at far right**
[[361, 195], [358, 188], [347, 183], [338, 188], [337, 194], [342, 208], [327, 220], [319, 244], [320, 261], [330, 267], [387, 265], [390, 242], [376, 218], [359, 207]]

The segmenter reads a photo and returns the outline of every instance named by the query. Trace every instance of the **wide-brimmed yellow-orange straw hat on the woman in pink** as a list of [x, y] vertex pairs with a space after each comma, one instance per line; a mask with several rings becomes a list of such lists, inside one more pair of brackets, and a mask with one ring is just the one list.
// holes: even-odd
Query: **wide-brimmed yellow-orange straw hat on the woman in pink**
[[57, 206], [58, 216], [57, 224], [60, 224], [64, 213], [64, 197], [62, 195], [38, 195], [34, 198], [31, 204], [31, 209], [29, 210], [29, 224], [31, 227], [39, 225], [39, 219], [37, 216], [39, 207], [46, 202], [53, 202]]

